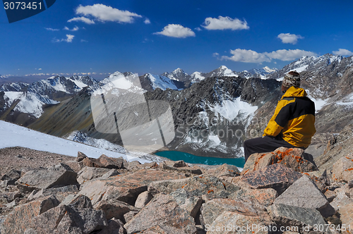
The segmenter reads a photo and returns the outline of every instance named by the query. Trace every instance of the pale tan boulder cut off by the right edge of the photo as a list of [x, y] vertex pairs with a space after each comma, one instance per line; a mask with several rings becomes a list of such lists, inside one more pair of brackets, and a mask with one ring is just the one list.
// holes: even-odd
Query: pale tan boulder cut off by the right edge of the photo
[[345, 183], [353, 180], [353, 153], [343, 156], [333, 164], [333, 180]]

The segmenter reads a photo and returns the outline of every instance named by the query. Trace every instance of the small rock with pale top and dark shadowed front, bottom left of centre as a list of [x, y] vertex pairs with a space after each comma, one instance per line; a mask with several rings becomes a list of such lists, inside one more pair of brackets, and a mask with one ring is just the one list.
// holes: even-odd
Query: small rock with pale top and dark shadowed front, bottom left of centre
[[121, 221], [124, 221], [124, 214], [130, 211], [140, 211], [140, 209], [117, 199], [102, 200], [95, 204], [94, 208], [104, 211], [107, 219], [116, 218]]

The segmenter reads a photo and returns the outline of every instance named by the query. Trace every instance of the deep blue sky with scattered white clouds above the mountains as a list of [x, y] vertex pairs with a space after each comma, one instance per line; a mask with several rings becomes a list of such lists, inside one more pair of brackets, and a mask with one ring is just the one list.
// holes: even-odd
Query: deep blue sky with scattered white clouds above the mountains
[[352, 11], [351, 0], [56, 0], [10, 24], [0, 9], [0, 74], [191, 74], [352, 56]]

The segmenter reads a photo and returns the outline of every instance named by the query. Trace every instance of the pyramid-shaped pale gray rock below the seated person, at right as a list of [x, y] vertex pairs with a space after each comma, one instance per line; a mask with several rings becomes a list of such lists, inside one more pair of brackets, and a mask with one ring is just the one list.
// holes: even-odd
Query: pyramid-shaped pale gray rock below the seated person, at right
[[299, 178], [288, 187], [280, 197], [275, 199], [274, 204], [316, 209], [326, 218], [335, 214], [335, 209], [331, 207], [325, 195], [306, 176]]

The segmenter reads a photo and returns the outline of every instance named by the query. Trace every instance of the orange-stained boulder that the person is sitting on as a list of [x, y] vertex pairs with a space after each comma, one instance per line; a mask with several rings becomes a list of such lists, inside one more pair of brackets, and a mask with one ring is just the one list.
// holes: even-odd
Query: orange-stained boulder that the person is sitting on
[[244, 165], [243, 171], [241, 171], [241, 175], [257, 171], [271, 164], [282, 164], [299, 172], [318, 170], [313, 161], [313, 156], [304, 153], [304, 149], [280, 147], [274, 152], [251, 154]]

